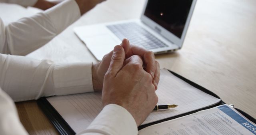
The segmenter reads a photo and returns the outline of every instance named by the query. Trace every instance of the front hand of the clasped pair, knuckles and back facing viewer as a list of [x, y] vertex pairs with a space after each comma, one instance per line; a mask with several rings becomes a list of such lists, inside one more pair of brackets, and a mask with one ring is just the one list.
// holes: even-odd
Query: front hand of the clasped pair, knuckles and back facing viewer
[[139, 126], [158, 102], [153, 77], [143, 69], [140, 56], [126, 59], [122, 46], [116, 46], [104, 77], [102, 103], [117, 104], [128, 110]]

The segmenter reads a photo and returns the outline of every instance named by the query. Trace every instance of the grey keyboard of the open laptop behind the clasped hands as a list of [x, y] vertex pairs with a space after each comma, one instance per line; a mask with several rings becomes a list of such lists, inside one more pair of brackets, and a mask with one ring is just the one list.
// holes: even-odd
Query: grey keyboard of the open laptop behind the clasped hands
[[167, 46], [135, 22], [109, 25], [107, 28], [120, 40], [127, 38], [131, 44], [143, 46], [148, 50]]

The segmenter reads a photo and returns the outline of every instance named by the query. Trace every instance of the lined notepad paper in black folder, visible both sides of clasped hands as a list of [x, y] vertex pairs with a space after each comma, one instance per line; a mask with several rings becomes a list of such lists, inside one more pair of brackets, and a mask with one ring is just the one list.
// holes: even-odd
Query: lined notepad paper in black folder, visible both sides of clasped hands
[[[176, 104], [178, 107], [152, 111], [142, 125], [220, 102], [220, 99], [191, 86], [166, 69], [161, 70], [156, 94], [158, 105]], [[102, 110], [100, 92], [48, 97], [47, 100], [76, 133], [86, 129]]]

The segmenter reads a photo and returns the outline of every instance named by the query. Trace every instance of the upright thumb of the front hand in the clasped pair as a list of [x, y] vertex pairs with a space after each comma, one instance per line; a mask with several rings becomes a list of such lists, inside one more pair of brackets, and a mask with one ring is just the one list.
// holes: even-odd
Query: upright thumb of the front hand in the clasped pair
[[120, 45], [115, 46], [108, 68], [108, 72], [116, 76], [118, 71], [120, 71], [123, 67], [124, 57], [124, 48], [122, 48], [122, 46]]

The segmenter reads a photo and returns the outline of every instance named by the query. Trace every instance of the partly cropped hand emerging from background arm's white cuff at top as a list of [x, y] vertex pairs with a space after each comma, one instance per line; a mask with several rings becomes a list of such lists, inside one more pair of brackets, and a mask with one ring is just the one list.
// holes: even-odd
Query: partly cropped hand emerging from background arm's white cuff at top
[[76, 0], [76, 3], [78, 4], [81, 15], [83, 15], [84, 13], [94, 8], [97, 4], [104, 1], [106, 0]]

